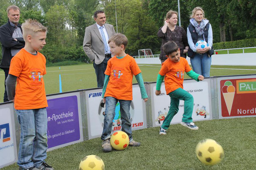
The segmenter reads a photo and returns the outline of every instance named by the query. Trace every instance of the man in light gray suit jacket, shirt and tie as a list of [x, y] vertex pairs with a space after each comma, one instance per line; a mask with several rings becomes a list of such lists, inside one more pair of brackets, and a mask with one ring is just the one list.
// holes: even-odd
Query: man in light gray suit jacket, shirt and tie
[[108, 40], [115, 34], [112, 25], [106, 24], [104, 11], [94, 13], [95, 24], [85, 28], [83, 51], [93, 61], [98, 87], [103, 87], [106, 65], [111, 58]]

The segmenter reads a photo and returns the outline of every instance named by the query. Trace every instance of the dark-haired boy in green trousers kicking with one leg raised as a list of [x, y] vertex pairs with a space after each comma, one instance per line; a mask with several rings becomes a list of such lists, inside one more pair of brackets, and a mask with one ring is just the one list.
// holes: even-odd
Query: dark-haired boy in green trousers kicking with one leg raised
[[160, 127], [159, 134], [166, 135], [166, 130], [169, 128], [173, 116], [178, 113], [178, 105], [180, 100], [184, 100], [184, 113], [181, 125], [192, 130], [198, 130], [198, 127], [193, 123], [192, 113], [194, 106], [193, 96], [183, 89], [184, 73], [196, 81], [202, 81], [204, 77], [196, 74], [185, 58], [181, 57], [178, 45], [173, 42], [167, 42], [163, 46], [167, 59], [163, 62], [159, 71], [155, 94], [161, 94], [161, 83], [164, 79], [166, 94], [171, 98], [170, 110], [163, 125]]

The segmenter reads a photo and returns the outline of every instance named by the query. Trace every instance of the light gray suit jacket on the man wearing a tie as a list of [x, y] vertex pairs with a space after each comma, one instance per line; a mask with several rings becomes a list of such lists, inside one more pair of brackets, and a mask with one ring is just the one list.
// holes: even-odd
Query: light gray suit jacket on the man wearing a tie
[[[104, 24], [104, 26], [109, 38], [115, 35], [115, 29], [112, 25]], [[94, 60], [95, 64], [100, 64], [105, 58], [104, 43], [96, 23], [85, 28], [83, 51], [91, 61]]]

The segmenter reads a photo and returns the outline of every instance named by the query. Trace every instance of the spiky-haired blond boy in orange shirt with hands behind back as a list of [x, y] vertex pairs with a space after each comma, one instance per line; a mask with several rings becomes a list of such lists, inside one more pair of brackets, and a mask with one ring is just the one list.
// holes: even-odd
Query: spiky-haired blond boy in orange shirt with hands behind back
[[31, 19], [21, 27], [25, 47], [12, 58], [6, 79], [8, 99], [14, 101], [21, 127], [17, 164], [19, 170], [54, 170], [44, 161], [48, 148], [48, 104], [43, 81], [46, 59], [38, 52], [46, 45], [47, 28]]

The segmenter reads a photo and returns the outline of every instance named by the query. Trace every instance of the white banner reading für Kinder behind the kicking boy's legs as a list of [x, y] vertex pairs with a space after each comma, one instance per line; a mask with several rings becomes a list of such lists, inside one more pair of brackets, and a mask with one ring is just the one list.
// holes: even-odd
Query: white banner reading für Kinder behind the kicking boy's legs
[[[170, 109], [170, 96], [166, 94], [164, 82], [161, 85], [161, 94], [159, 96], [155, 95], [155, 88], [156, 83], [150, 84], [153, 127], [162, 125]], [[212, 119], [210, 79], [204, 79], [202, 82], [184, 80], [183, 88], [194, 97], [193, 122]], [[171, 124], [180, 123], [183, 113], [184, 101], [180, 100], [179, 111], [173, 117]]]

